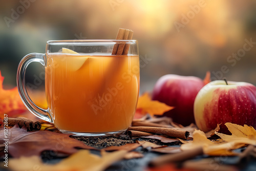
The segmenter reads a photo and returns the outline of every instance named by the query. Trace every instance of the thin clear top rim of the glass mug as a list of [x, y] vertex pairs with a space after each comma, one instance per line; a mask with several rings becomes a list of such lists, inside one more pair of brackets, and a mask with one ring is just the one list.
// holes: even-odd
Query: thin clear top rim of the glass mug
[[102, 43], [106, 43], [106, 44], [116, 44], [117, 42], [125, 42], [125, 43], [128, 43], [128, 44], [136, 44], [137, 40], [116, 40], [116, 39], [71, 39], [71, 40], [48, 40], [46, 43], [48, 45], [59, 45], [59, 44], [73, 44], [73, 43], [99, 43], [99, 44], [102, 44]]

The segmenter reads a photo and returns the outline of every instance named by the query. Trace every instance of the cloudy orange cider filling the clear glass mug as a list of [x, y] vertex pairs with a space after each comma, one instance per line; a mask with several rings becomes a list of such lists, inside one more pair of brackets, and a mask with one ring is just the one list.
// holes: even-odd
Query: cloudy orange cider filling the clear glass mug
[[59, 130], [127, 129], [139, 93], [139, 57], [48, 53], [46, 96]]

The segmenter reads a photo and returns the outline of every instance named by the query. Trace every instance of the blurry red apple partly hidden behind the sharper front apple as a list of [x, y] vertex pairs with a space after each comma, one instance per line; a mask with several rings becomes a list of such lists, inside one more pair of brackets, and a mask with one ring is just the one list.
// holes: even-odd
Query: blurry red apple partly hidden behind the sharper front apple
[[[208, 72], [206, 78], [209, 80], [209, 77]], [[175, 106], [175, 109], [164, 113], [163, 116], [171, 117], [174, 122], [186, 126], [195, 123], [194, 100], [204, 84], [202, 79], [194, 76], [164, 75], [158, 79], [152, 99]]]

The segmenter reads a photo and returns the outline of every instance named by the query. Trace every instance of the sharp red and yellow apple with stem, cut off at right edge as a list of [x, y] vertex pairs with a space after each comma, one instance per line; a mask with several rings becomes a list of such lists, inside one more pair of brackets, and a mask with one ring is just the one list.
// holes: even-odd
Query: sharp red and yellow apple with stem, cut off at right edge
[[198, 128], [204, 132], [222, 123], [220, 132], [229, 134], [226, 122], [256, 128], [256, 87], [247, 82], [212, 81], [199, 91], [194, 113]]

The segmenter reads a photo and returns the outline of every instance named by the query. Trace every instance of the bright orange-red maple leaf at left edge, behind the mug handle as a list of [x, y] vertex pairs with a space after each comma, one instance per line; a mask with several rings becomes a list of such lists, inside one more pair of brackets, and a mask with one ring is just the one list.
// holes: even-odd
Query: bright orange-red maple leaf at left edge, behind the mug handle
[[8, 114], [9, 117], [23, 113], [27, 110], [20, 99], [17, 87], [11, 90], [3, 89], [4, 77], [0, 71], [0, 118], [3, 118], [4, 114]]

